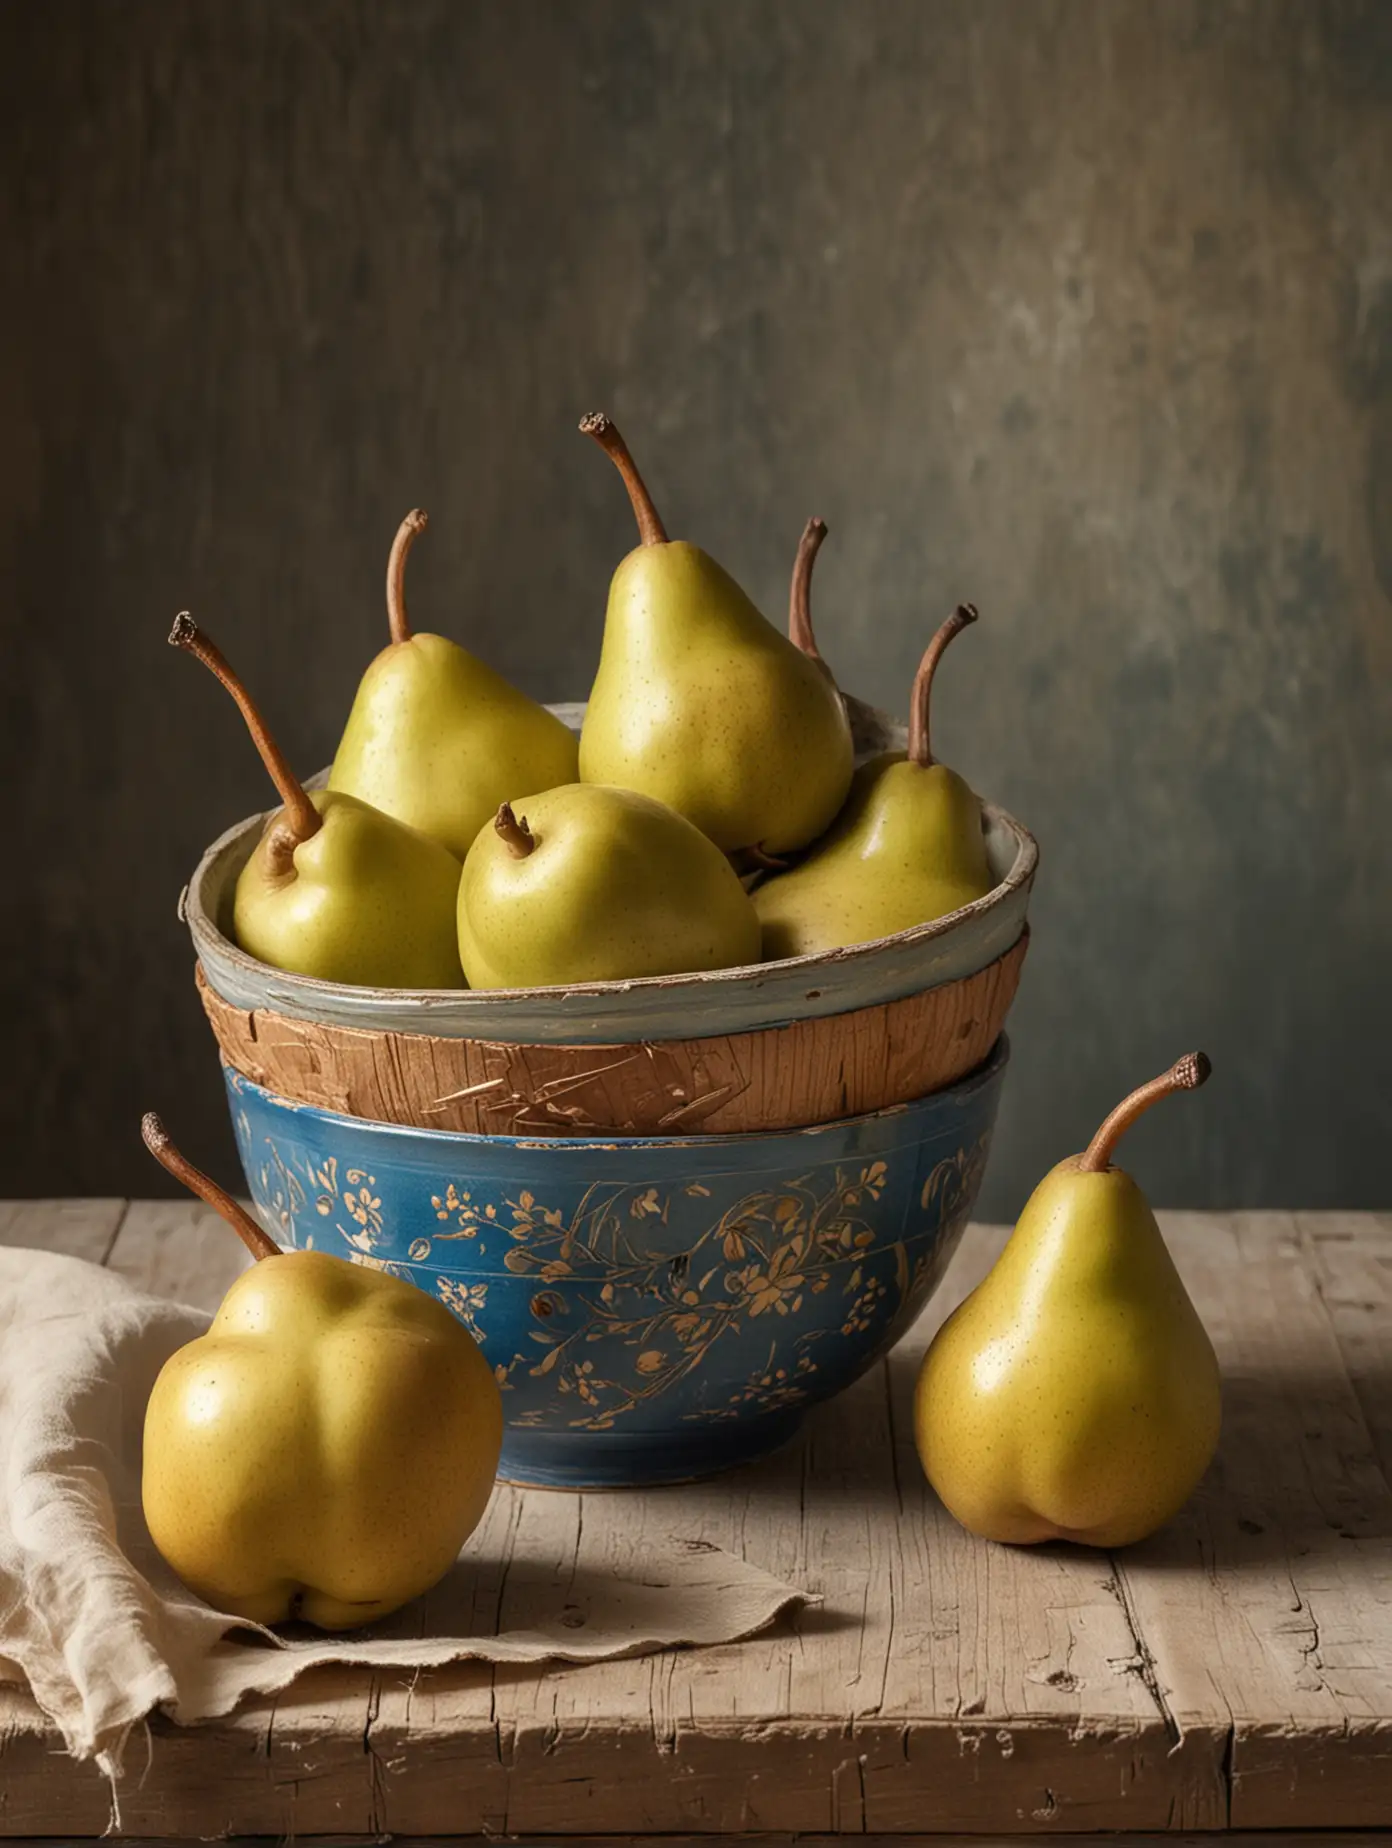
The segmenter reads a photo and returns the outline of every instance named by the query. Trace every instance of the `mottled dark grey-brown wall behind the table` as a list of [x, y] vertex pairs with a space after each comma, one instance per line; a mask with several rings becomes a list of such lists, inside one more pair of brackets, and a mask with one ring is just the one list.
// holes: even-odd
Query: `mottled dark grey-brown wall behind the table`
[[[174, 902], [423, 626], [584, 689], [617, 482], [1043, 845], [983, 1210], [1191, 1044], [1155, 1198], [1386, 1205], [1392, 7], [0, 11], [4, 1192], [233, 1172]], [[1381, 1131], [1381, 1133], [1379, 1133]]]

